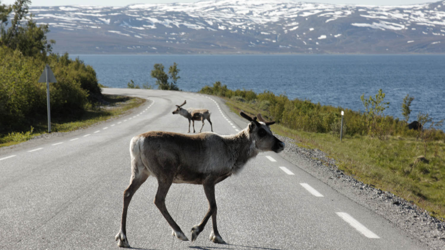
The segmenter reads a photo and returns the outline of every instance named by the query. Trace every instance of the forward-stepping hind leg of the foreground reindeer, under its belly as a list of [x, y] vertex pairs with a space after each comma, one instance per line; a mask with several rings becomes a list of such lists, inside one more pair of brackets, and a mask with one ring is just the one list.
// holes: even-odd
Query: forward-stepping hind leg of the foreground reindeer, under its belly
[[173, 218], [171, 218], [167, 211], [166, 196], [172, 181], [172, 179], [166, 179], [165, 181], [158, 180], [158, 192], [156, 193], [156, 197], [154, 198], [153, 202], [158, 207], [159, 211], [161, 211], [161, 214], [164, 216], [170, 227], [173, 229], [172, 235], [183, 241], [188, 241], [189, 239], [182, 232], [181, 228], [179, 228], [178, 224], [174, 222]]

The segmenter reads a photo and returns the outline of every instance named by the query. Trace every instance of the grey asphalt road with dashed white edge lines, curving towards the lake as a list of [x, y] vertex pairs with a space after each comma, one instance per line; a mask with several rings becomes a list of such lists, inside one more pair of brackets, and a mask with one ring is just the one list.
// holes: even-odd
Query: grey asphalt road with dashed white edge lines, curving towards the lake
[[[212, 112], [215, 133], [237, 133], [248, 124], [218, 97], [141, 89], [103, 93], [147, 102], [88, 129], [0, 149], [1, 249], [118, 249], [114, 236], [133, 136], [150, 130], [186, 133], [186, 118], [171, 113], [184, 100], [184, 108]], [[196, 122], [195, 129], [200, 127]], [[210, 131], [208, 122], [203, 131]], [[211, 220], [194, 244], [174, 238], [153, 204], [156, 189], [156, 179], [149, 177], [130, 203], [127, 237], [136, 249], [425, 249], [273, 152], [260, 153], [241, 173], [216, 185], [218, 230], [227, 245], [209, 241]], [[208, 205], [201, 185], [173, 184], [166, 206], [190, 239]]]

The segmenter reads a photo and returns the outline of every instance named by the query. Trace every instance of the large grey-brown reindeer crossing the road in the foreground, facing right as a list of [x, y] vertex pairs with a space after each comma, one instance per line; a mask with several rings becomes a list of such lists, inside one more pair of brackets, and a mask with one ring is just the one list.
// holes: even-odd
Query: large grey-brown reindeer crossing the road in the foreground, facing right
[[210, 241], [226, 244], [216, 226], [215, 184], [232, 174], [239, 173], [246, 162], [259, 152], [281, 152], [284, 143], [270, 130], [275, 121], [266, 122], [261, 117], [240, 115], [250, 121], [247, 128], [233, 135], [218, 135], [204, 132], [194, 135], [151, 131], [133, 137], [130, 141], [131, 177], [124, 191], [121, 228], [115, 239], [120, 247], [129, 247], [126, 236], [128, 205], [138, 188], [153, 175], [158, 180], [158, 191], [154, 204], [158, 207], [170, 227], [172, 235], [180, 240], [189, 239], [174, 222], [167, 211], [165, 198], [172, 183], [200, 184], [204, 187], [209, 209], [201, 223], [191, 229], [193, 243], [212, 217], [213, 230]]

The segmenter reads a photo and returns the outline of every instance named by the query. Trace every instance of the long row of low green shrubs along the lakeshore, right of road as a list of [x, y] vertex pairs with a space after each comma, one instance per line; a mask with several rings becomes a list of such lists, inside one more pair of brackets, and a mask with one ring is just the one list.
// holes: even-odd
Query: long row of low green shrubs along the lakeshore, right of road
[[[231, 90], [227, 85], [217, 81], [213, 87], [204, 86], [199, 93], [226, 97], [231, 101], [254, 105], [263, 112], [263, 116], [284, 125], [289, 129], [306, 132], [333, 133], [340, 135], [341, 111], [344, 111], [343, 135], [371, 135], [385, 139], [388, 135], [418, 137], [419, 133], [408, 129], [405, 121], [384, 116], [383, 111], [389, 103], [383, 102], [384, 93], [379, 90], [376, 97], [369, 97], [364, 102], [366, 112], [360, 113], [341, 107], [323, 106], [310, 100], [289, 100], [285, 95], [275, 95], [270, 91], [255, 94], [252, 90]], [[429, 129], [430, 137], [443, 140], [445, 135], [441, 130]]]

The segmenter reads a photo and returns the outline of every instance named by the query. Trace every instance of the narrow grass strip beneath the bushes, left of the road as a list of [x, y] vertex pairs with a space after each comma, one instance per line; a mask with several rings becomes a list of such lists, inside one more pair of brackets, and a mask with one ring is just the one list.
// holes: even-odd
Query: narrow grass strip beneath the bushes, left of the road
[[[69, 132], [87, 128], [97, 122], [106, 121], [109, 118], [124, 114], [127, 110], [138, 107], [146, 102], [146, 100], [142, 98], [118, 95], [104, 95], [104, 100], [107, 102], [107, 105], [89, 109], [78, 119], [61, 120], [57, 119], [57, 117], [51, 117], [51, 131]], [[42, 119], [41, 121], [36, 121], [35, 126], [31, 127], [29, 131], [12, 132], [0, 137], [0, 147], [18, 144], [47, 132], [48, 120]]]

